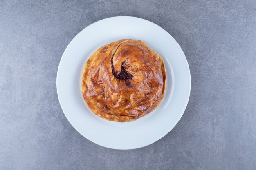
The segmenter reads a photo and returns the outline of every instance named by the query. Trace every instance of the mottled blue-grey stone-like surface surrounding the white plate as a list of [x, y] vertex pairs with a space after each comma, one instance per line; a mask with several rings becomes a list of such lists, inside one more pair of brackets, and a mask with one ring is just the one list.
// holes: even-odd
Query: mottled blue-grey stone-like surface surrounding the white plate
[[[135, 150], [81, 136], [61, 110], [61, 55], [89, 24], [155, 22], [182, 47], [191, 97], [175, 128]], [[256, 1], [0, 0], [0, 170], [255, 170]]]

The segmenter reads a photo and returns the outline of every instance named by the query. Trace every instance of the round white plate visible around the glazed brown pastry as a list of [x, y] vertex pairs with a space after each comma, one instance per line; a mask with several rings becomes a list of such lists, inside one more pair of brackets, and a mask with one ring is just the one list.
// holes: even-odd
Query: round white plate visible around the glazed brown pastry
[[[166, 92], [158, 108], [133, 122], [112, 122], [90, 111], [81, 93], [85, 62], [99, 47], [120, 39], [142, 40], [162, 56]], [[135, 17], [106, 18], [81, 31], [67, 46], [57, 73], [61, 108], [70, 124], [90, 141], [114, 149], [135, 149], [161, 139], [182, 117], [190, 94], [190, 71], [179, 44], [160, 26]]]

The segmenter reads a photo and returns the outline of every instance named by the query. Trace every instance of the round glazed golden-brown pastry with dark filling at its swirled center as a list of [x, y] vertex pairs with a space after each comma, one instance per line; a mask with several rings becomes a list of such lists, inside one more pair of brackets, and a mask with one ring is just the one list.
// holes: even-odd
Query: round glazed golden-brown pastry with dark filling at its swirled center
[[140, 40], [102, 46], [85, 63], [82, 93], [95, 115], [110, 121], [134, 121], [157, 108], [164, 97], [162, 57]]

